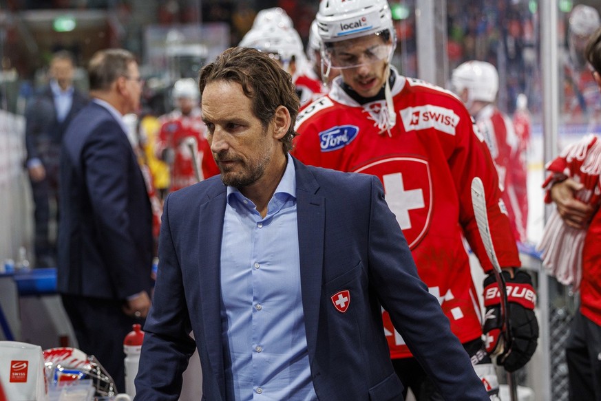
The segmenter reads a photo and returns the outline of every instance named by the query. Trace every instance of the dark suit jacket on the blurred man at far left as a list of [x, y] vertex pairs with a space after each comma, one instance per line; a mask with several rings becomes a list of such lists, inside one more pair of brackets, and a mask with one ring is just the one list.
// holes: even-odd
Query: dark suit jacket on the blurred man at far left
[[56, 119], [54, 94], [50, 85], [36, 96], [25, 110], [25, 148], [27, 160], [39, 158], [48, 164], [59, 164], [61, 141], [74, 116], [87, 105], [87, 98], [74, 89], [71, 109], [65, 120]]

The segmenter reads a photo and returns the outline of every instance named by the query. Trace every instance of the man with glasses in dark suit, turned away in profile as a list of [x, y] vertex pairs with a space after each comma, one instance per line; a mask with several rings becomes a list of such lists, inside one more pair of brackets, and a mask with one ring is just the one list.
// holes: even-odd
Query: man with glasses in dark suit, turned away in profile
[[125, 388], [123, 339], [142, 323], [152, 286], [152, 214], [122, 116], [140, 105], [134, 56], [101, 50], [88, 68], [92, 101], [61, 149], [57, 289], [79, 348]]

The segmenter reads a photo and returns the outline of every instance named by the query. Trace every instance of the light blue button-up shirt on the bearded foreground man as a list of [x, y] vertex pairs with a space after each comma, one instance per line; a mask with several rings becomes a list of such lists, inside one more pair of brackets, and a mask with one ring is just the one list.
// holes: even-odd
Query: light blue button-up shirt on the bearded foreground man
[[262, 218], [228, 186], [221, 252], [227, 400], [317, 400], [300, 288], [291, 156]]

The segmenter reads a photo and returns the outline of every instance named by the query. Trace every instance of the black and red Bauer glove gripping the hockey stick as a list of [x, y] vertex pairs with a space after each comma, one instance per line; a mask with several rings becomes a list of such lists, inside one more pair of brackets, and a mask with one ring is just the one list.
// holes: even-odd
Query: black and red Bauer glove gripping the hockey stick
[[536, 351], [538, 342], [538, 321], [534, 315], [536, 292], [530, 276], [516, 270], [512, 279], [509, 272], [503, 272], [507, 286], [507, 314], [509, 315], [510, 347], [503, 343], [500, 316], [500, 296], [494, 273], [484, 279], [484, 305], [486, 307], [483, 325], [486, 351], [497, 356], [497, 365], [512, 372], [526, 365]]

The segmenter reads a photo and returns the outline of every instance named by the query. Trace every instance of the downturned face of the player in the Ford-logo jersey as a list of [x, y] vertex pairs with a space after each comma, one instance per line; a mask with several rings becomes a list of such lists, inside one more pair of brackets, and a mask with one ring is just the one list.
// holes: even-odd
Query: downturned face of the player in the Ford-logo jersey
[[330, 60], [344, 82], [364, 98], [377, 95], [386, 83], [391, 43], [375, 34], [332, 43]]

